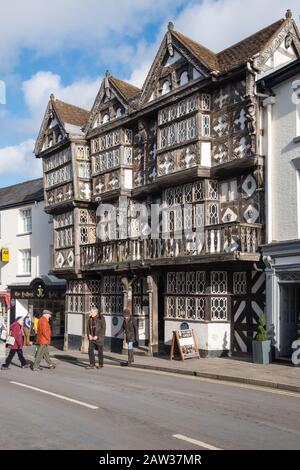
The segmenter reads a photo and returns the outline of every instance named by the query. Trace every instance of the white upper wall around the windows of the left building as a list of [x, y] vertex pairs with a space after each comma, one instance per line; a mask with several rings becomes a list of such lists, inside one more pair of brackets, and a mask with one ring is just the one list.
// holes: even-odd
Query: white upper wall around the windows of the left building
[[[32, 233], [19, 236], [19, 209], [26, 208], [32, 210]], [[0, 262], [0, 290], [6, 290], [11, 284], [28, 284], [36, 277], [48, 275], [52, 269], [50, 245], [53, 244], [53, 227], [49, 223], [49, 215], [44, 212], [44, 202], [2, 210], [0, 217], [0, 248], [9, 248], [10, 251], [9, 263]], [[18, 275], [18, 251], [25, 249], [31, 249], [31, 276]]]

